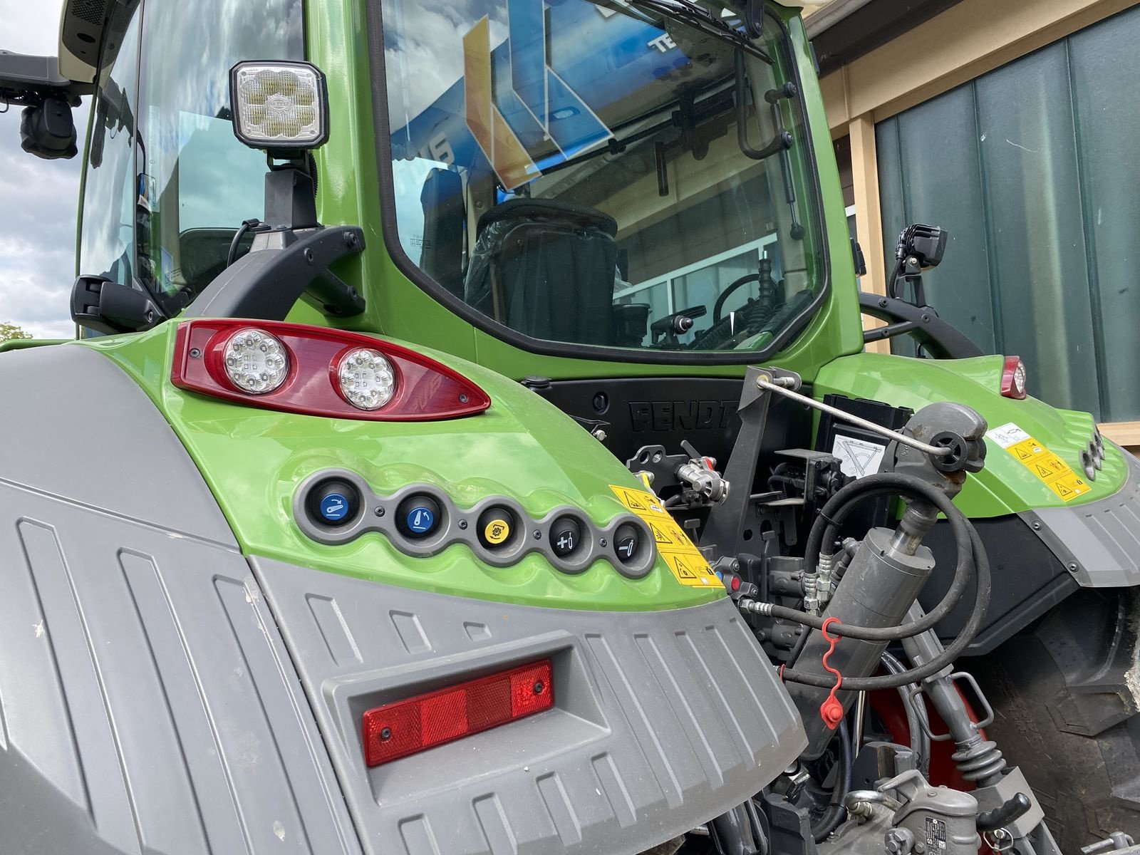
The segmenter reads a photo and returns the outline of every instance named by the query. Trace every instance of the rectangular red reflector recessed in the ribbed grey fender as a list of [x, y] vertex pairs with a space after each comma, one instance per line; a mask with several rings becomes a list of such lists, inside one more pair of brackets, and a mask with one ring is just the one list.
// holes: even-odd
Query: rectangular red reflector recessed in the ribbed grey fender
[[548, 660], [480, 677], [364, 714], [369, 766], [470, 736], [554, 706]]

